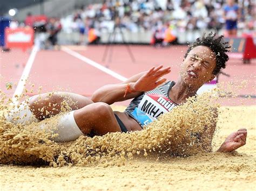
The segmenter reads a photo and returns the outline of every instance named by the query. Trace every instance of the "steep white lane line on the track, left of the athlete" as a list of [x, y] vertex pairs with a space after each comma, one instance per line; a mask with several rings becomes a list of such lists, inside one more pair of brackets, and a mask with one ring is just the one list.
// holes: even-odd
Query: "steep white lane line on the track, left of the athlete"
[[36, 53], [38, 52], [38, 46], [33, 46], [32, 51], [30, 53], [29, 59], [26, 62], [26, 66], [22, 72], [21, 79], [19, 79], [18, 85], [16, 87], [15, 93], [12, 96], [12, 104], [17, 105], [18, 104], [18, 98], [22, 95], [23, 89], [26, 84], [26, 80], [29, 77], [30, 69], [33, 65], [33, 62], [36, 58]]

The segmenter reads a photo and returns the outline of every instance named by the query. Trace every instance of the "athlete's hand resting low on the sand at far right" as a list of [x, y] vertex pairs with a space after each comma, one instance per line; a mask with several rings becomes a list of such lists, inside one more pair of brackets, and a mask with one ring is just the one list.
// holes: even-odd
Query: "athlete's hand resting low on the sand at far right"
[[246, 144], [247, 130], [239, 129], [236, 132], [231, 133], [220, 146], [218, 152], [232, 152], [237, 148]]

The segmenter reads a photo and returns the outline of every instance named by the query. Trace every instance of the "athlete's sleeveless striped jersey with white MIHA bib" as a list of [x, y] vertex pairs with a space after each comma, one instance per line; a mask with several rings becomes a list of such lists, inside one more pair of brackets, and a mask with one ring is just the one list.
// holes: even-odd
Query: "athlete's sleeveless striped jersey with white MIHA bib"
[[171, 111], [178, 104], [169, 97], [169, 91], [175, 82], [169, 81], [163, 86], [151, 91], [145, 91], [142, 95], [134, 98], [125, 112], [135, 119], [140, 126], [155, 121], [160, 115]]

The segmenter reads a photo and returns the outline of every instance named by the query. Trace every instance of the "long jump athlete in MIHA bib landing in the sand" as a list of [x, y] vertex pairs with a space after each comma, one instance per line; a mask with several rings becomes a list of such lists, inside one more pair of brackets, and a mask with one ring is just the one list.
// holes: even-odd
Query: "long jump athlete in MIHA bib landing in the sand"
[[[72, 106], [73, 111], [60, 119], [56, 142], [75, 140], [81, 135], [101, 136], [108, 132], [143, 130], [144, 125], [156, 120], [159, 115], [171, 111], [173, 107], [184, 103], [188, 97], [196, 95], [204, 83], [214, 79], [220, 68], [225, 68], [229, 46], [223, 43], [222, 39], [222, 36], [215, 37], [215, 34], [210, 33], [191, 44], [184, 56], [176, 82], [166, 82], [166, 79], [162, 78], [171, 72], [170, 67], [153, 67], [123, 83], [99, 88], [93, 93], [91, 100], [81, 95], [63, 92], [52, 96], [33, 96], [28, 101], [29, 109], [26, 116], [43, 120], [56, 115], [60, 111], [64, 97], [68, 97], [69, 101], [77, 104]], [[125, 112], [112, 111], [110, 104], [130, 98], [134, 99]], [[216, 124], [213, 124], [205, 131], [211, 140], [215, 126]], [[231, 133], [218, 151], [236, 150], [245, 145], [246, 136], [246, 129]], [[208, 144], [211, 148], [211, 142]]]

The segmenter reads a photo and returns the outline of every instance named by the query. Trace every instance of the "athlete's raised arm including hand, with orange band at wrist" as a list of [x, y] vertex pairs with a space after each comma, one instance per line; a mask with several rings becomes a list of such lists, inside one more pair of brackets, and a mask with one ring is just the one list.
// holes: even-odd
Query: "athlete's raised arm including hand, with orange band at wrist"
[[[156, 68], [152, 67], [146, 72], [130, 77], [125, 82], [108, 84], [99, 88], [93, 93], [91, 100], [93, 102], [105, 102], [107, 104], [129, 100], [141, 95], [143, 91], [152, 90], [159, 86], [159, 84], [165, 82], [166, 79], [161, 79], [161, 76], [170, 73], [170, 71], [170, 67], [163, 68], [162, 65]], [[127, 86], [129, 86], [130, 91], [127, 91]]]

